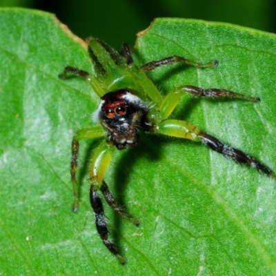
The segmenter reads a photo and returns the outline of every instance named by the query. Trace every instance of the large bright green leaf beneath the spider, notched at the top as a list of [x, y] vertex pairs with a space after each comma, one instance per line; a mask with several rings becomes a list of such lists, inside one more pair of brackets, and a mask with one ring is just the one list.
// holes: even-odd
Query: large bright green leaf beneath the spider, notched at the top
[[[199, 143], [141, 134], [117, 151], [106, 181], [141, 219], [105, 206], [128, 263], [103, 246], [86, 167], [98, 141], [81, 143], [79, 213], [70, 211], [73, 132], [99, 103], [88, 84], [57, 75], [92, 72], [84, 43], [52, 15], [0, 10], [0, 275], [276, 275], [275, 181]], [[217, 68], [166, 66], [150, 77], [168, 92], [191, 84], [260, 97], [260, 103], [181, 99], [174, 117], [276, 170], [276, 36], [224, 23], [157, 19], [139, 34], [137, 63], [170, 55]]]

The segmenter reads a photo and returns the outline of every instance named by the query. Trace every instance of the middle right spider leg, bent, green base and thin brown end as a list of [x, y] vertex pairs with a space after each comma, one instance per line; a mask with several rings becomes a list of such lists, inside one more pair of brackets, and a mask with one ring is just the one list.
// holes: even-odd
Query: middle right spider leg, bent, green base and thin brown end
[[246, 101], [258, 102], [259, 98], [247, 97], [225, 89], [217, 88], [199, 88], [197, 86], [178, 86], [166, 95], [160, 106], [160, 118], [161, 120], [168, 118], [171, 112], [177, 106], [179, 99], [185, 93], [193, 95], [195, 97], [209, 97], [209, 98], [230, 98], [230, 99], [242, 99]]

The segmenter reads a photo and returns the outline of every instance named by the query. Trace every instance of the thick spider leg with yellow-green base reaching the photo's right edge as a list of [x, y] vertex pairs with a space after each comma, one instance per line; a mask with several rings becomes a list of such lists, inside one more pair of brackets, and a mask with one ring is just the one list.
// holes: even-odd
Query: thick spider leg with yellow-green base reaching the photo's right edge
[[261, 164], [257, 159], [251, 157], [250, 155], [242, 152], [242, 150], [237, 150], [230, 146], [226, 146], [221, 143], [217, 138], [202, 132], [197, 127], [189, 124], [186, 121], [179, 121], [174, 119], [168, 119], [155, 124], [153, 132], [157, 132], [164, 135], [169, 135], [172, 137], [179, 137], [184, 139], [190, 139], [193, 141], [202, 141], [204, 145], [208, 146], [210, 149], [215, 150], [225, 157], [236, 161], [240, 164], [246, 164], [255, 168], [259, 172], [264, 172], [268, 177], [273, 177], [276, 179], [275, 173], [269, 168]]

